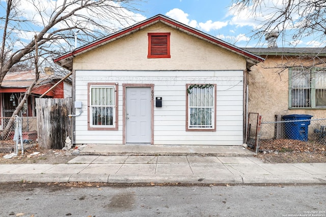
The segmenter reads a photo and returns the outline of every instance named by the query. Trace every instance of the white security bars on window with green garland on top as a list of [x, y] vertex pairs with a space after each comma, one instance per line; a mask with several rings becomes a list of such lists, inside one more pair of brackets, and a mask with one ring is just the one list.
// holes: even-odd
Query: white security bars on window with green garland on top
[[193, 87], [188, 94], [189, 128], [213, 128], [214, 87]]

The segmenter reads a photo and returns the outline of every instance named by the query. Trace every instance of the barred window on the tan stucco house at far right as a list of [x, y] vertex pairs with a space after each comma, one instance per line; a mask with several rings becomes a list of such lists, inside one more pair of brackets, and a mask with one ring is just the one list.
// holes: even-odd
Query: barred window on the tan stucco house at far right
[[290, 108], [326, 108], [325, 68], [289, 70]]

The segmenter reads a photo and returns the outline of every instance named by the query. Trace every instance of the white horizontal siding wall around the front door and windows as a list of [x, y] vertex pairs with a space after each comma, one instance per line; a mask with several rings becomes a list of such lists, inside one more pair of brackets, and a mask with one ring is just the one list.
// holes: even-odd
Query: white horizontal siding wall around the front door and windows
[[[243, 117], [243, 71], [82, 71], [76, 73], [76, 101], [83, 113], [76, 117], [76, 143], [122, 144], [123, 83], [154, 84], [154, 144], [241, 145]], [[90, 76], [91, 75], [91, 76]], [[119, 130], [88, 131], [87, 99], [89, 82], [119, 83]], [[186, 132], [186, 83], [217, 85], [216, 132]], [[153, 102], [155, 105], [155, 102]]]

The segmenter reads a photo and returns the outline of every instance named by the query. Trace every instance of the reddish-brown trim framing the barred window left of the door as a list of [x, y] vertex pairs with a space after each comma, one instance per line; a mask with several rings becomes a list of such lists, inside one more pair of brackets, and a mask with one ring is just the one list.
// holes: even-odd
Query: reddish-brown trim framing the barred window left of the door
[[[116, 91], [116, 110], [115, 110], [115, 114], [116, 114], [116, 119], [114, 120], [115, 121], [115, 127], [91, 127], [90, 125], [90, 121], [91, 121], [91, 118], [90, 118], [90, 89], [91, 89], [91, 86], [92, 85], [103, 85], [103, 86], [115, 86], [115, 91]], [[91, 130], [91, 131], [117, 131], [118, 130], [118, 87], [119, 87], [119, 84], [116, 84], [116, 83], [88, 83], [88, 88], [87, 88], [87, 92], [88, 92], [88, 102], [87, 102], [87, 130]]]

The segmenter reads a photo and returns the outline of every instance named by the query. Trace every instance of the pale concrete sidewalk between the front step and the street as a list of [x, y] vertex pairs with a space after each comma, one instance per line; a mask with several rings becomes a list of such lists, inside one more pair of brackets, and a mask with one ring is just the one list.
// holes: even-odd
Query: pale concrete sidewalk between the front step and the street
[[[144, 153], [144, 152], [143, 152]], [[252, 155], [252, 154], [251, 154]], [[326, 184], [326, 164], [267, 164], [253, 156], [80, 155], [68, 164], [3, 164], [0, 182]]]

